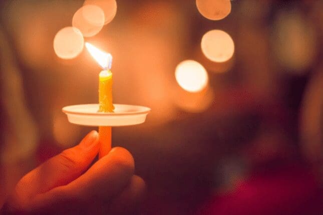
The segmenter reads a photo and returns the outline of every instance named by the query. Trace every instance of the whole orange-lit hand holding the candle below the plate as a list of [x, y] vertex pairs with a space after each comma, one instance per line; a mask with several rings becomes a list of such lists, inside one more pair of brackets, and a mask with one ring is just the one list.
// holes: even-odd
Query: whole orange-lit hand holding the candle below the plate
[[134, 214], [145, 182], [134, 175], [134, 159], [122, 147], [93, 160], [98, 132], [27, 173], [1, 214]]

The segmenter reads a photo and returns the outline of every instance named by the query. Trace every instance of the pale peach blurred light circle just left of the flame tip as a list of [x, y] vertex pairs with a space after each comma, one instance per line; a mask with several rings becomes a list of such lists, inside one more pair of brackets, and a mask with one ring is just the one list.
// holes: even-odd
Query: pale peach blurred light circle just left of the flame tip
[[55, 53], [63, 59], [72, 59], [81, 53], [84, 38], [76, 27], [64, 27], [54, 37]]

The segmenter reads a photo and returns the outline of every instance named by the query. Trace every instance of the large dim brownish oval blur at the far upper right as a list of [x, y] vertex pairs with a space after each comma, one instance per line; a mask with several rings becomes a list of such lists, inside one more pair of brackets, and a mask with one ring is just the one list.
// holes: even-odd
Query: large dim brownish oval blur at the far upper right
[[318, 53], [317, 33], [299, 10], [279, 12], [273, 35], [273, 49], [283, 67], [302, 73], [312, 65]]

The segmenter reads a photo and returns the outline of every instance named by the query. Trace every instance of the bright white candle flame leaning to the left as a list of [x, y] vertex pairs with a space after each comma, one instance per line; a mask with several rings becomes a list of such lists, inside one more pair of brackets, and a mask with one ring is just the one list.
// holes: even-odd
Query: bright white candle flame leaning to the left
[[110, 53], [100, 50], [89, 42], [86, 42], [85, 46], [103, 69], [111, 69], [112, 55]]

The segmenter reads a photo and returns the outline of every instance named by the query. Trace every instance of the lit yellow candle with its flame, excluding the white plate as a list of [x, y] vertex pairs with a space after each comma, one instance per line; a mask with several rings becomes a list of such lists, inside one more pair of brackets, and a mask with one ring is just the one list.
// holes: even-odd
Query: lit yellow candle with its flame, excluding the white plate
[[[86, 42], [85, 46], [93, 56], [93, 58], [100, 64], [103, 70], [99, 74], [99, 112], [113, 112], [114, 106], [112, 103], [112, 55], [106, 53], [92, 44]], [[99, 127], [99, 158], [108, 154], [111, 149], [111, 126]]]

